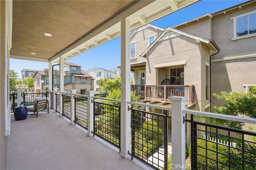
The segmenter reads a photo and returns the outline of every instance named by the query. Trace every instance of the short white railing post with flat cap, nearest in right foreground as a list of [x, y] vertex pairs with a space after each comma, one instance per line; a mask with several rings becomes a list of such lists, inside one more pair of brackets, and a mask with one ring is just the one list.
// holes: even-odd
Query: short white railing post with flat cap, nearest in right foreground
[[186, 166], [186, 123], [185, 114], [187, 97], [171, 97], [172, 101], [172, 169], [185, 169]]

